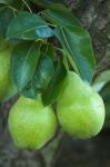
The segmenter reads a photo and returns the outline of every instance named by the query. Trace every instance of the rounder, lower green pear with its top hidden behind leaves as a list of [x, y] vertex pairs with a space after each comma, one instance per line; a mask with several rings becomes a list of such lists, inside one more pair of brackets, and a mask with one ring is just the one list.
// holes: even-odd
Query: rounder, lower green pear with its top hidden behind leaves
[[40, 98], [20, 97], [9, 114], [8, 125], [16, 146], [33, 150], [53, 137], [57, 118], [52, 107], [44, 107]]

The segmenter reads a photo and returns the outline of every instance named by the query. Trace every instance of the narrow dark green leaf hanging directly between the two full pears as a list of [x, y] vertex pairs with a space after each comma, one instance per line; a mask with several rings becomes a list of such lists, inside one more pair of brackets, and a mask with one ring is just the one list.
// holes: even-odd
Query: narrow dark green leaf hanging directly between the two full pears
[[54, 75], [53, 75], [50, 84], [48, 85], [47, 90], [42, 95], [42, 100], [43, 100], [44, 105], [50, 105], [56, 101], [56, 99], [58, 98], [58, 96], [62, 89], [62, 84], [63, 84], [63, 79], [64, 79], [66, 75], [67, 75], [67, 70], [66, 70], [64, 66], [62, 63], [60, 65], [58, 62], [56, 65]]

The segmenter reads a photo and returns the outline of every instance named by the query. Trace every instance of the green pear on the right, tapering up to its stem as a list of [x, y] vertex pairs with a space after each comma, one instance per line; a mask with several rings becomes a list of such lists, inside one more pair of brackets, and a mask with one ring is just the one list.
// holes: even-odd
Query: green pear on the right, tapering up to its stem
[[79, 139], [99, 134], [106, 115], [102, 98], [73, 71], [63, 82], [57, 114], [63, 130]]

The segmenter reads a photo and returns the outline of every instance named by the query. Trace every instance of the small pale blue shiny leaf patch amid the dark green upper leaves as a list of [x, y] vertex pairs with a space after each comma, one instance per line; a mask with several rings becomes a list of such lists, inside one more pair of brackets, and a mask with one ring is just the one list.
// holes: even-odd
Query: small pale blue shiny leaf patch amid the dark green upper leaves
[[37, 39], [43, 39], [43, 38], [53, 37], [54, 33], [50, 27], [46, 26], [46, 27], [38, 27], [36, 29], [36, 36]]

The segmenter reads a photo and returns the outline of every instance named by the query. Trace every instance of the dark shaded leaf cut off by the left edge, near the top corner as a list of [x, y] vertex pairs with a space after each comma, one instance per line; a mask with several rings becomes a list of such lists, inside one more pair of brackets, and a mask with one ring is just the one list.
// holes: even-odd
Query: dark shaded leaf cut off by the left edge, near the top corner
[[6, 37], [7, 28], [13, 19], [13, 12], [8, 7], [0, 8], [0, 36]]

